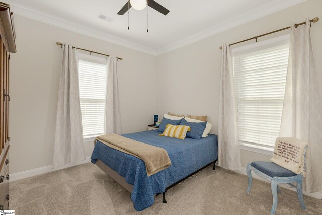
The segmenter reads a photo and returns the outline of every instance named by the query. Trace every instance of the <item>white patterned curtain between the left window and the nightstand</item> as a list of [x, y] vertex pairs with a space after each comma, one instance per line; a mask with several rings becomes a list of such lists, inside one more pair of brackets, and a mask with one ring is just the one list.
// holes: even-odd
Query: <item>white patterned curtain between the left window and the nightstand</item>
[[107, 69], [104, 134], [121, 134], [121, 110], [115, 56], [110, 55], [108, 58]]

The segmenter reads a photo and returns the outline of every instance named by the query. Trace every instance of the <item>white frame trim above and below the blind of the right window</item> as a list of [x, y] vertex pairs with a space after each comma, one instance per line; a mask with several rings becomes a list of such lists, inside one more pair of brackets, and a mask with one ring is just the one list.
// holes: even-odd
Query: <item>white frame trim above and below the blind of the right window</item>
[[[273, 47], [274, 44], [278, 45], [278, 44], [283, 44], [287, 42], [289, 43], [289, 41], [290, 41], [290, 34], [286, 34], [272, 39], [267, 39], [261, 42], [256, 42], [256, 43], [252, 43], [252, 44], [237, 47], [237, 48], [232, 48], [231, 50], [232, 57], [234, 57], [237, 54], [243, 54], [245, 52], [248, 52], [250, 49], [252, 49], [252, 51], [261, 50], [261, 47], [262, 48], [267, 48], [268, 46]], [[261, 144], [256, 144], [254, 142], [246, 142], [246, 141], [240, 141], [240, 140], [238, 141], [239, 141], [239, 149], [273, 156], [274, 146], [265, 146]]]

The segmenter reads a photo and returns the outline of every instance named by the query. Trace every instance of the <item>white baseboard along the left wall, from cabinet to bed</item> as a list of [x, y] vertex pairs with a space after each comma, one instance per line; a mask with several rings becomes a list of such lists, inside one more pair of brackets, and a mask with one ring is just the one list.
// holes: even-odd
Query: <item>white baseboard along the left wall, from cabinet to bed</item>
[[91, 161], [91, 156], [88, 156], [88, 157], [85, 158], [85, 160], [79, 161], [79, 162], [75, 163], [74, 165], [65, 164], [65, 165], [57, 167], [55, 169], [51, 169], [51, 165], [49, 165], [49, 166], [39, 167], [39, 168], [26, 170], [26, 171], [22, 171], [22, 172], [12, 173], [12, 174], [10, 174], [9, 182], [13, 182], [13, 181], [17, 181], [17, 180], [24, 179], [24, 178], [29, 178], [29, 177], [32, 177], [32, 176], [53, 172], [53, 171], [56, 171], [56, 170], [65, 169], [65, 168], [72, 167], [72, 166], [77, 166], [77, 165], [80, 165], [80, 164], [85, 164], [85, 163], [88, 163], [90, 161]]

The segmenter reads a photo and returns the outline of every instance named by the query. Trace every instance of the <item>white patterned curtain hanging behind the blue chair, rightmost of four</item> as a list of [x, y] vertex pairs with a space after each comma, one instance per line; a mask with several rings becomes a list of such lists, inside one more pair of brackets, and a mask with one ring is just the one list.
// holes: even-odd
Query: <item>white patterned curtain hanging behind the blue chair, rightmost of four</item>
[[311, 42], [310, 22], [291, 25], [291, 44], [280, 136], [308, 142], [306, 192], [322, 192], [322, 101]]

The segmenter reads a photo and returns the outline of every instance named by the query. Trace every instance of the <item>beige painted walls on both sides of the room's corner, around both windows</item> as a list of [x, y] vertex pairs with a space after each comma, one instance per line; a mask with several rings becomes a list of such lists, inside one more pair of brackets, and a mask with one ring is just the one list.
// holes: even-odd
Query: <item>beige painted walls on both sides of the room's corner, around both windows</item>
[[[124, 133], [146, 130], [155, 113], [162, 115], [168, 111], [206, 114], [213, 124], [211, 133], [217, 133], [221, 61], [218, 47], [288, 26], [290, 22], [302, 22], [306, 17], [322, 18], [321, 8], [322, 1], [309, 0], [158, 57], [16, 16], [18, 52], [11, 54], [10, 60], [11, 173], [52, 163], [61, 58], [57, 41], [124, 57], [118, 63]], [[319, 84], [322, 83], [321, 35], [322, 21], [319, 21], [312, 26]], [[320, 92], [322, 95], [322, 87]], [[92, 143], [86, 143], [85, 149], [86, 156], [90, 156]], [[244, 166], [253, 160], [270, 158], [245, 150], [241, 155]]]

